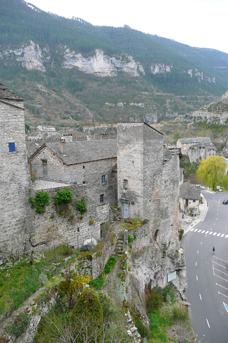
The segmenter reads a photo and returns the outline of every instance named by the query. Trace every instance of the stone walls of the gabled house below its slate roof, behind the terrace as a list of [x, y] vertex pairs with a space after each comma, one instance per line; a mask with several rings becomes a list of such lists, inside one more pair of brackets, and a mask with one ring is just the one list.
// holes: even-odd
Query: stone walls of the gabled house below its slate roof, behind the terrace
[[[83, 182], [88, 186], [88, 197], [90, 197], [94, 204], [100, 203], [101, 194], [104, 194], [104, 202], [109, 202], [113, 205], [116, 204], [116, 195], [114, 192], [117, 189], [117, 180], [112, 172], [112, 168], [117, 163], [117, 157], [66, 165], [63, 163], [61, 156], [58, 157], [44, 145], [36, 155], [30, 159], [30, 164], [43, 166], [43, 160], [48, 162], [48, 167], [50, 168], [82, 171]], [[102, 175], [106, 175], [105, 184], [102, 184]]]

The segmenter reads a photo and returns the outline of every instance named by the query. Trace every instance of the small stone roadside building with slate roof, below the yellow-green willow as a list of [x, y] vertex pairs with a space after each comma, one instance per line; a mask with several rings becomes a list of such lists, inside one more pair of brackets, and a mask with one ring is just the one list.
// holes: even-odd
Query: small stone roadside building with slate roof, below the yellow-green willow
[[196, 217], [199, 214], [199, 200], [200, 189], [199, 187], [191, 185], [189, 182], [185, 182], [180, 186], [179, 195], [179, 209], [184, 213], [190, 213], [192, 217]]

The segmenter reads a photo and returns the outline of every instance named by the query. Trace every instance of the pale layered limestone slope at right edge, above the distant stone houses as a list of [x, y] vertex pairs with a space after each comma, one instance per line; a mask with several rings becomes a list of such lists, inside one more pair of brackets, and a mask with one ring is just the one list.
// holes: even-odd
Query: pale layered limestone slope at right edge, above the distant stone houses
[[218, 100], [213, 101], [209, 105], [204, 105], [198, 111], [194, 111], [193, 116], [200, 119], [212, 121], [218, 119], [221, 124], [224, 124], [228, 118], [228, 90]]

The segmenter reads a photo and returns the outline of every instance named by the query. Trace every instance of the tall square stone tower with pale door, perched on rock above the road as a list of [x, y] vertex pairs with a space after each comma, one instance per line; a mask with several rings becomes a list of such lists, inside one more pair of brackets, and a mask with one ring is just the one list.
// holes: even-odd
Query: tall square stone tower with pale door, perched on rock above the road
[[163, 134], [143, 122], [118, 123], [117, 148], [122, 216], [147, 219], [158, 244], [178, 247], [179, 153], [163, 151]]

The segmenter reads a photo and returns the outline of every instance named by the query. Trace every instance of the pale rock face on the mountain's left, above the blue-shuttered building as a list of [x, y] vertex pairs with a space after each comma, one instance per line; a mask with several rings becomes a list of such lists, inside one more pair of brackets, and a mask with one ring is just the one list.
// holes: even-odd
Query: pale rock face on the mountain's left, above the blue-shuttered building
[[30, 40], [30, 44], [24, 49], [24, 56], [18, 57], [17, 61], [22, 62], [22, 67], [26, 67], [28, 70], [35, 69], [45, 72], [46, 69], [43, 65], [43, 55], [39, 44], [35, 44], [32, 40]]

